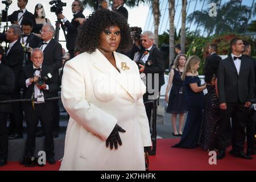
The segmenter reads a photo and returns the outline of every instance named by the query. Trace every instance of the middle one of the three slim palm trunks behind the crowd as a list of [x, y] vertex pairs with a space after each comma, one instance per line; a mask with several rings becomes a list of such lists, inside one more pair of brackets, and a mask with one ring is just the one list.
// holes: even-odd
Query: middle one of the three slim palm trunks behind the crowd
[[171, 66], [172, 60], [174, 60], [174, 16], [175, 16], [175, 0], [169, 1], [169, 20], [170, 20], [170, 31], [169, 31], [169, 65]]

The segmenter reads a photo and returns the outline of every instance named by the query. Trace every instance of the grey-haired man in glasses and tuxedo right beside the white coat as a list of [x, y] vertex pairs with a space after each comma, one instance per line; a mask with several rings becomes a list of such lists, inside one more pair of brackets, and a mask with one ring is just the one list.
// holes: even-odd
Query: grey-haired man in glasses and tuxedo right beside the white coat
[[[139, 64], [139, 72], [147, 87], [143, 95], [143, 101], [156, 100], [159, 96], [160, 88], [164, 84], [164, 60], [163, 53], [154, 44], [154, 34], [151, 31], [144, 31], [141, 35], [143, 49], [139, 60], [144, 65]], [[152, 79], [151, 79], [152, 78]], [[151, 121], [152, 104], [145, 104], [148, 122]]]

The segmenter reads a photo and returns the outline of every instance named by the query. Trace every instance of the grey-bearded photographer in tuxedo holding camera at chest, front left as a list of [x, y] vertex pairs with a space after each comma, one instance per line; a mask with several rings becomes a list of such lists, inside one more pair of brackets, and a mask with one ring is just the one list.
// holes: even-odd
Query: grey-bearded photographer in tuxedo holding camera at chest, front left
[[[44, 126], [46, 159], [49, 164], [55, 164], [52, 134], [54, 104], [53, 101], [45, 101], [44, 98], [55, 96], [57, 80], [53, 76], [52, 67], [43, 64], [44, 56], [40, 48], [35, 48], [31, 51], [31, 60], [33, 64], [24, 66], [19, 77], [19, 85], [23, 88], [22, 98], [33, 99], [32, 102], [23, 102], [27, 123], [27, 142], [22, 164], [27, 164], [26, 159], [32, 160], [34, 157], [38, 119]], [[46, 76], [48, 76], [47, 80], [44, 78]], [[39, 78], [43, 78], [43, 84], [39, 85]]]

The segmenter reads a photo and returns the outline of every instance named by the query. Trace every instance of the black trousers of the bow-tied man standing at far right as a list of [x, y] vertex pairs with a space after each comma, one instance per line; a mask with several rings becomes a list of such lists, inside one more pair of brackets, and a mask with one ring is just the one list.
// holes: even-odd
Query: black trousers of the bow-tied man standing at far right
[[[232, 136], [232, 149], [242, 151], [245, 143], [245, 126], [249, 108], [245, 103], [227, 103], [227, 109], [220, 109], [220, 124], [218, 126], [218, 147], [229, 146]], [[230, 126], [232, 118], [232, 127]]]

